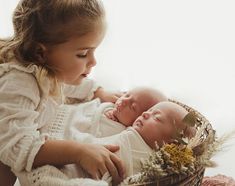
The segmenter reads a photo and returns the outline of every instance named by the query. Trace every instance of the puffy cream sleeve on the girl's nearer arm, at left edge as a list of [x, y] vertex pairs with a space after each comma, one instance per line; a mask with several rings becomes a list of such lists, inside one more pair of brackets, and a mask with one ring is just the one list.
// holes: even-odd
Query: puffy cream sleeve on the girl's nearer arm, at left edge
[[0, 73], [0, 161], [15, 171], [30, 171], [45, 142], [46, 136], [37, 130], [39, 102], [31, 74], [16, 69]]

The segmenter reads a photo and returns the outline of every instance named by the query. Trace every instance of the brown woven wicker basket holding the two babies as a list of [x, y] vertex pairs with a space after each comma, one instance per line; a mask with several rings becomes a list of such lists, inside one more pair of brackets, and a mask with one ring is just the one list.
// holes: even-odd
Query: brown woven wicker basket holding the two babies
[[[200, 144], [202, 143], [212, 143], [215, 140], [215, 131], [212, 128], [210, 122], [198, 111], [195, 109], [175, 100], [169, 100], [174, 102], [182, 107], [184, 107], [188, 112], [194, 112], [197, 117], [197, 129], [203, 126], [203, 132], [200, 138]], [[209, 135], [213, 136], [213, 141], [207, 141]], [[200, 145], [199, 144], [199, 145]], [[129, 186], [200, 186], [204, 176], [205, 168], [199, 166], [193, 175], [181, 175], [181, 174], [172, 174], [165, 177], [162, 177], [154, 182], [148, 182], [144, 184], [132, 184]]]

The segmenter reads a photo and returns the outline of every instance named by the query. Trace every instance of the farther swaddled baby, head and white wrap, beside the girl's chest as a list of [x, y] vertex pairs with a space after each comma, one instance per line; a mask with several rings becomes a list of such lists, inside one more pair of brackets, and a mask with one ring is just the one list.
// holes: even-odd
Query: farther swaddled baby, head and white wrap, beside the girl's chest
[[131, 126], [138, 116], [153, 105], [167, 101], [165, 95], [153, 88], [134, 88], [121, 96], [115, 104], [100, 103], [99, 99], [68, 106], [71, 109], [66, 136], [77, 138], [77, 131], [96, 137], [111, 136]]

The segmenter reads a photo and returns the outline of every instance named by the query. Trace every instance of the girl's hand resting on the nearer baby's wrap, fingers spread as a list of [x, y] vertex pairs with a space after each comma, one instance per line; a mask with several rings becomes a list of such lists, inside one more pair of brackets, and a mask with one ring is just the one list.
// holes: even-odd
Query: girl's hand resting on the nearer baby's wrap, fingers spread
[[115, 145], [81, 144], [77, 155], [77, 163], [86, 170], [93, 179], [101, 179], [109, 172], [113, 183], [120, 183], [124, 177], [122, 161], [113, 153], [119, 150]]

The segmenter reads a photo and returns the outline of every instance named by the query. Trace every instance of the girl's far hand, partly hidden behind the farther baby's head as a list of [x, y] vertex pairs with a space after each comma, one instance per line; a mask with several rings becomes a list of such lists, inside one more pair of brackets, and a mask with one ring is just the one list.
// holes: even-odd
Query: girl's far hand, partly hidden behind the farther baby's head
[[123, 95], [122, 92], [108, 92], [103, 88], [98, 88], [95, 91], [95, 98], [100, 98], [101, 102], [112, 102], [115, 103], [119, 97]]

